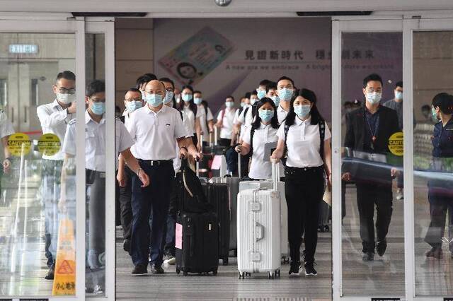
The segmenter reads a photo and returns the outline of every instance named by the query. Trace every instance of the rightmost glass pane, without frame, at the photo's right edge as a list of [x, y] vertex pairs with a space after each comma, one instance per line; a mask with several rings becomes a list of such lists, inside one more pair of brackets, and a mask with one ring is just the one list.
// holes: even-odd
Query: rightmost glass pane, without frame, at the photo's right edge
[[[453, 295], [453, 32], [413, 33], [415, 295]], [[432, 107], [435, 111], [432, 112]]]

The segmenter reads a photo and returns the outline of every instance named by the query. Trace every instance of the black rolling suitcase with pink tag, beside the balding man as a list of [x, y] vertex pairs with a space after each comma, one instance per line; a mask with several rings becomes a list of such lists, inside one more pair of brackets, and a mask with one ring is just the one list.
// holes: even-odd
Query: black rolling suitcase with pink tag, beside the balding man
[[217, 215], [180, 213], [176, 221], [176, 273], [210, 273], [219, 268]]

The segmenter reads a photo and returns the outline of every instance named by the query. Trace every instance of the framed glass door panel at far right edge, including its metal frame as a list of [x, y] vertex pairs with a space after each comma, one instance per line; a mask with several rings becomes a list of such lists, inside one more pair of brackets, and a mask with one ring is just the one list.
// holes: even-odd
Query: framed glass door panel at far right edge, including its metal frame
[[452, 21], [404, 20], [408, 300], [453, 297]]

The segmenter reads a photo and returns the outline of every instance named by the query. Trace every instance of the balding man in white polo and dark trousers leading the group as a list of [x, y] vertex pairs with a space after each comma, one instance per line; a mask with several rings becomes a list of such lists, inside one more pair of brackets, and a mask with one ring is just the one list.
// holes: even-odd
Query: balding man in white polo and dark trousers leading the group
[[161, 81], [150, 81], [145, 88], [147, 105], [135, 112], [127, 126], [135, 141], [134, 151], [140, 166], [151, 178], [151, 185], [140, 187], [137, 177], [132, 179], [132, 244], [133, 274], [147, 273], [149, 256], [149, 216], [151, 214], [151, 269], [164, 273], [161, 267], [164, 255], [164, 226], [168, 214], [171, 182], [175, 171], [175, 141], [180, 148], [200, 160], [201, 154], [185, 137], [187, 130], [180, 113], [164, 105], [166, 88]]

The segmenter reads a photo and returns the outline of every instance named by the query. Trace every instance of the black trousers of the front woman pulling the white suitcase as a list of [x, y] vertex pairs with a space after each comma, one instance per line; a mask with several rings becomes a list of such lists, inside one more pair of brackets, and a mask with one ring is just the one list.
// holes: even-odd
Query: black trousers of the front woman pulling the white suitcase
[[302, 234], [305, 262], [313, 263], [318, 243], [319, 203], [324, 192], [323, 167], [285, 169], [285, 197], [288, 206], [288, 240], [291, 261], [300, 261]]

